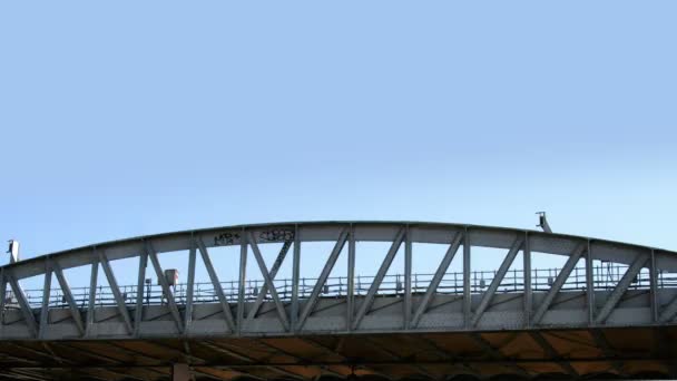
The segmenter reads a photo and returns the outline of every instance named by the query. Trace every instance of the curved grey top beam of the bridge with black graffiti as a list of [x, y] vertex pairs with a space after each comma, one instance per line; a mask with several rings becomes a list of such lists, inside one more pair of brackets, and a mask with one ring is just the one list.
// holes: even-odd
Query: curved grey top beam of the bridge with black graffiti
[[[91, 263], [91, 255], [95, 248], [104, 250], [109, 261], [138, 256], [146, 250], [145, 242], [153, 242], [156, 253], [189, 250], [192, 237], [200, 237], [205, 242], [205, 247], [239, 245], [242, 232], [247, 232], [257, 236], [257, 243], [283, 242], [284, 236], [276, 235], [283, 233], [294, 234], [298, 227], [301, 242], [336, 241], [341, 232], [353, 226], [356, 241], [387, 242], [401, 228], [409, 226], [411, 241], [413, 243], [438, 243], [449, 244], [451, 237], [459, 232], [469, 232], [469, 240], [472, 246], [510, 248], [513, 244], [516, 234], [522, 234], [524, 229], [492, 227], [480, 225], [443, 224], [426, 222], [305, 222], [305, 223], [273, 223], [254, 225], [234, 225], [224, 227], [213, 227], [195, 231], [183, 231], [165, 234], [146, 235], [127, 240], [110, 241], [88, 245], [67, 251], [56, 252], [49, 256], [59, 261], [61, 268], [82, 266]], [[622, 264], [630, 264], [637, 251], [655, 250], [657, 255], [669, 257], [659, 262], [659, 267], [677, 272], [677, 261], [671, 256], [676, 252], [590, 238], [576, 235], [551, 234], [537, 231], [528, 231], [530, 237], [530, 250], [549, 254], [568, 256], [577, 244], [581, 242], [593, 242], [596, 260], [614, 261]], [[288, 236], [287, 236], [288, 237]], [[10, 270], [16, 279], [24, 279], [45, 273], [42, 261], [45, 255], [35, 256], [28, 260], [7, 264], [2, 268]]]

